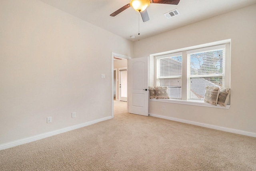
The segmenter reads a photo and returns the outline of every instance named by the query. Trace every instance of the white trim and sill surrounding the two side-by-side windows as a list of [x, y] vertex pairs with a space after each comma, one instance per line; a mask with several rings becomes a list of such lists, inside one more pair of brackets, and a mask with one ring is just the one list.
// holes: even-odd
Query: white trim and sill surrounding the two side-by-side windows
[[[154, 76], [152, 76], [151, 78], [149, 78], [149, 85], [152, 85], [152, 83], [154, 82], [154, 86], [156, 86], [156, 64], [155, 64], [155, 60], [156, 58], [158, 58], [158, 56], [165, 56], [165, 55], [169, 55], [169, 54], [174, 54], [174, 53], [178, 53], [180, 54], [180, 52], [182, 52], [182, 56], [187, 54], [187, 51], [192, 51], [192, 50], [196, 50], [198, 48], [208, 48], [210, 46], [222, 46], [222, 44], [229, 44], [229, 46], [226, 46], [226, 62], [225, 62], [225, 70], [228, 71], [228, 73], [226, 73], [226, 87], [230, 87], [230, 47], [231, 47], [231, 39], [227, 39], [227, 40], [221, 40], [221, 41], [217, 41], [217, 42], [211, 42], [211, 43], [207, 43], [207, 44], [201, 44], [201, 45], [197, 45], [197, 46], [191, 46], [191, 47], [187, 47], [187, 48], [181, 48], [181, 49], [176, 49], [176, 50], [171, 50], [168, 52], [160, 52], [157, 54], [151, 54], [150, 55], [150, 62], [149, 62], [149, 66], [150, 66], [150, 70], [149, 73], [152, 73], [154, 71]], [[186, 72], [187, 73], [187, 58], [182, 58], [182, 73]], [[184, 66], [186, 65], [186, 66]], [[183, 75], [183, 74], [182, 74]], [[187, 85], [187, 77], [183, 77], [182, 78], [182, 87], [184, 87]], [[185, 88], [186, 89], [186, 88]], [[185, 96], [185, 97], [184, 97]], [[187, 91], [182, 91], [182, 99], [150, 99], [150, 101], [158, 101], [158, 102], [165, 102], [165, 103], [178, 103], [178, 104], [185, 104], [185, 105], [196, 105], [196, 106], [204, 106], [204, 107], [215, 107], [215, 108], [222, 108], [222, 109], [229, 109], [230, 105], [226, 105], [224, 106], [220, 106], [220, 105], [212, 105], [209, 103], [205, 103], [204, 101], [200, 101], [200, 100], [188, 100], [187, 98]]]

